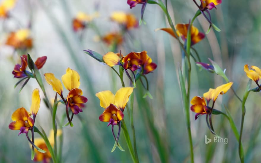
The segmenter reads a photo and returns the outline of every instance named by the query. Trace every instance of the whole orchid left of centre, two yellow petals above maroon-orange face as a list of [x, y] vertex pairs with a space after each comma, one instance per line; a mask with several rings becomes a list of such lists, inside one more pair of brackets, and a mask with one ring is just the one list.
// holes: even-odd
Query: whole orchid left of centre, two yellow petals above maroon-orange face
[[[69, 90], [67, 98], [63, 97], [63, 85], [61, 81], [55, 78], [53, 73], [45, 73], [45, 80], [48, 84], [52, 86], [52, 89], [58, 93], [63, 99], [63, 102], [66, 105], [66, 115], [69, 123], [71, 124], [71, 120], [69, 117], [68, 108], [71, 108], [73, 114], [78, 114], [82, 112], [82, 107], [84, 107], [84, 103], [87, 102], [87, 98], [82, 96], [82, 90], [79, 89], [80, 86], [80, 76], [79, 73], [71, 68], [66, 69], [66, 74], [62, 76], [62, 82], [64, 87]], [[72, 124], [71, 124], [72, 125]]]

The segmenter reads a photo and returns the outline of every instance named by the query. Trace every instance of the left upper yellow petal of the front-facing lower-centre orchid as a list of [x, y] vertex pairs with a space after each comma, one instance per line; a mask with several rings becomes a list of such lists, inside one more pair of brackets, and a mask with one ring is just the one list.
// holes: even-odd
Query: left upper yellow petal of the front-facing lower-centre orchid
[[111, 103], [114, 104], [114, 94], [111, 91], [101, 91], [95, 94], [100, 99], [100, 106], [107, 108]]

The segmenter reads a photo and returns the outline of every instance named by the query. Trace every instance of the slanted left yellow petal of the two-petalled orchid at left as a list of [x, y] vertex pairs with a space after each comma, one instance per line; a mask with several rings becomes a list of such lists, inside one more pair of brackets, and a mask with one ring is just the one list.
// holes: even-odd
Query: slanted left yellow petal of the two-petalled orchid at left
[[52, 89], [56, 91], [60, 96], [63, 92], [63, 85], [61, 81], [55, 78], [53, 73], [45, 73], [44, 74], [45, 80], [48, 84], [52, 86]]

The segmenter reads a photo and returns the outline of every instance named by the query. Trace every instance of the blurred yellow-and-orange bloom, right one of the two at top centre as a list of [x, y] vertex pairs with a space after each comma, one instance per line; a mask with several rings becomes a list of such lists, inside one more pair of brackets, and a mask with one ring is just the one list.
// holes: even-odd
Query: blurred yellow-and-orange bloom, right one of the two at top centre
[[133, 14], [120, 11], [113, 12], [111, 15], [111, 20], [123, 25], [127, 30], [138, 27], [138, 21]]

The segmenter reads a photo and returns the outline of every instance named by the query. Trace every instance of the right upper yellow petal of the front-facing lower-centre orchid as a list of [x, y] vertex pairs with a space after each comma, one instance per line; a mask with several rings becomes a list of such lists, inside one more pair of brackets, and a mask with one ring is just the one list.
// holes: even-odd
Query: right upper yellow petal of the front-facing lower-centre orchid
[[124, 110], [126, 103], [129, 101], [129, 96], [133, 92], [133, 87], [123, 87], [115, 94], [115, 105]]

